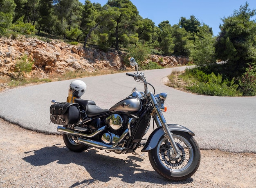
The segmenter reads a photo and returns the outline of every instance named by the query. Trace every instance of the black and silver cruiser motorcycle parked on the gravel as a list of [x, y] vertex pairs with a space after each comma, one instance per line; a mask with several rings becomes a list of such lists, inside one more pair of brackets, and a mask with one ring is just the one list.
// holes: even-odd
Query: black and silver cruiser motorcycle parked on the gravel
[[[65, 145], [71, 151], [82, 152], [94, 147], [106, 152], [139, 155], [136, 149], [143, 147], [141, 152], [148, 152], [152, 167], [162, 177], [171, 181], [191, 177], [200, 164], [195, 134], [181, 125], [167, 124], [162, 113], [166, 111], [167, 93], [155, 94], [144, 73], [138, 72], [134, 58], [130, 59], [130, 65], [135, 66], [137, 73], [126, 75], [144, 83], [144, 92], [134, 88], [132, 94], [110, 109], [101, 109], [94, 101], [79, 97], [66, 103], [53, 100], [51, 121], [58, 124], [57, 131], [63, 134]], [[149, 92], [148, 85], [153, 93]], [[143, 143], [151, 118], [157, 128]]]

